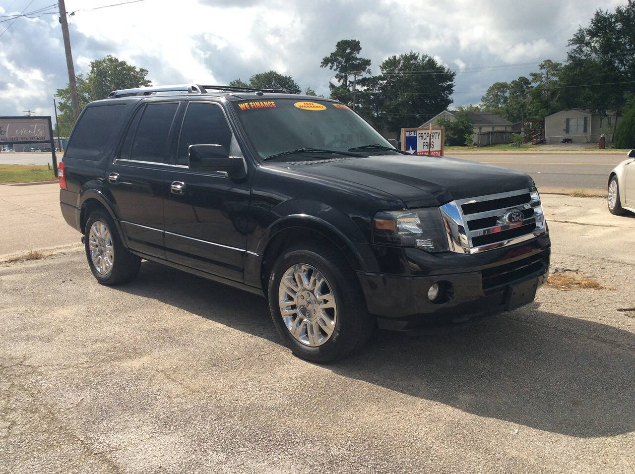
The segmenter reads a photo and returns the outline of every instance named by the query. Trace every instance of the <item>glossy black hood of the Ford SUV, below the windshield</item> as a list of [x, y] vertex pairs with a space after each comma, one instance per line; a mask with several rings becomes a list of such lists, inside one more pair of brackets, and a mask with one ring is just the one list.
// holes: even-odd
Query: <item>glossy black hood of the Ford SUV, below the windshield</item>
[[387, 192], [408, 207], [446, 202], [533, 186], [525, 173], [450, 157], [382, 155], [328, 162], [284, 163], [293, 171], [350, 181]]

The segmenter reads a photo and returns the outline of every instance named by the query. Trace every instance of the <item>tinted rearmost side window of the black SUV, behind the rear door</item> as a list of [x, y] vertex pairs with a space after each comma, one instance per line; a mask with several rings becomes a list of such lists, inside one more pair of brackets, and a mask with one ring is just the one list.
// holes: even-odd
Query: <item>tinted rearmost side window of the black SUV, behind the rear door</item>
[[65, 157], [97, 161], [119, 130], [119, 120], [126, 110], [123, 103], [88, 107], [70, 136]]

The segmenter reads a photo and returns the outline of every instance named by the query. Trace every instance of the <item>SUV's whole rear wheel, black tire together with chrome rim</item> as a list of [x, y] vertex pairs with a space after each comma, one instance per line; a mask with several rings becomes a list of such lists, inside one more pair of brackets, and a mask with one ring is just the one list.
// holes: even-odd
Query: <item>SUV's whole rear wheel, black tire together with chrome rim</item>
[[109, 214], [96, 209], [84, 227], [84, 247], [90, 271], [102, 285], [129, 282], [139, 273], [141, 258], [123, 246]]

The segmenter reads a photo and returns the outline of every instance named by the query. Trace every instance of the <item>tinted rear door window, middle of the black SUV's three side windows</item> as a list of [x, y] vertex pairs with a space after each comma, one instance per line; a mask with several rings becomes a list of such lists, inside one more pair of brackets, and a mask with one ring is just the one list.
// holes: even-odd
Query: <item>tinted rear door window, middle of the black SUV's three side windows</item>
[[[133, 127], [128, 130], [128, 134], [135, 133], [130, 150], [131, 160], [155, 163], [170, 161], [170, 129], [177, 109], [178, 102], [149, 103], [145, 106], [136, 133]], [[127, 137], [124, 143], [126, 140]]]

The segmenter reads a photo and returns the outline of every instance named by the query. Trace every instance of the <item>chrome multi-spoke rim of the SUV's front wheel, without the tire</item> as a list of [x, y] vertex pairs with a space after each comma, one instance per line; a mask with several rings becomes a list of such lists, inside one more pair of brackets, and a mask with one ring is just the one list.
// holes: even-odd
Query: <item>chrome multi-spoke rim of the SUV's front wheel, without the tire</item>
[[335, 295], [324, 275], [311, 265], [297, 263], [284, 272], [278, 303], [284, 325], [305, 346], [321, 346], [333, 334]]

